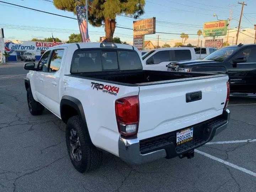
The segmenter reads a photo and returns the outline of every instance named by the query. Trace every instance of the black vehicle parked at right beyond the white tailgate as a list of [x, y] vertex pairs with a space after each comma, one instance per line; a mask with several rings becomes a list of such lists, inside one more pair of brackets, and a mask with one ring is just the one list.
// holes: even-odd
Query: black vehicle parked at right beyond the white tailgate
[[169, 71], [228, 74], [231, 92], [256, 93], [256, 44], [228, 46], [203, 60], [166, 66]]

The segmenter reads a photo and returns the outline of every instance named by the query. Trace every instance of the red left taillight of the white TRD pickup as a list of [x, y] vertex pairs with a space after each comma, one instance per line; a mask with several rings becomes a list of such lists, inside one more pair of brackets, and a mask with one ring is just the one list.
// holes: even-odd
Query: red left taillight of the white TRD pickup
[[116, 100], [115, 108], [119, 133], [125, 137], [137, 135], [139, 126], [138, 95], [119, 98]]

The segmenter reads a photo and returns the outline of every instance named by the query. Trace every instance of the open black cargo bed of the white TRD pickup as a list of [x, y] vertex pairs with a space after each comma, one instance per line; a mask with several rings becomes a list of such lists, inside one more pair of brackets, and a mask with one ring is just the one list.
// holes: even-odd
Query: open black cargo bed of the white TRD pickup
[[[215, 74], [209, 73], [184, 73], [177, 71], [151, 71], [151, 70], [132, 70], [132, 71], [107, 71], [94, 73], [79, 73], [69, 76], [85, 79], [101, 79], [103, 81], [114, 81], [121, 84], [145, 84], [149, 82], [180, 80], [187, 78], [211, 78]], [[194, 79], [193, 79], [194, 80]]]

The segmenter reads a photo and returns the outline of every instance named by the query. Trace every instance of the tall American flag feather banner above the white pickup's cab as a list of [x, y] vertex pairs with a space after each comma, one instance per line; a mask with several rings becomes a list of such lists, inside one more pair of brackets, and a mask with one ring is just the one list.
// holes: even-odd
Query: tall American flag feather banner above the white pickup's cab
[[88, 27], [86, 25], [86, 10], [84, 5], [76, 5], [76, 16], [78, 18], [82, 42], [90, 42]]

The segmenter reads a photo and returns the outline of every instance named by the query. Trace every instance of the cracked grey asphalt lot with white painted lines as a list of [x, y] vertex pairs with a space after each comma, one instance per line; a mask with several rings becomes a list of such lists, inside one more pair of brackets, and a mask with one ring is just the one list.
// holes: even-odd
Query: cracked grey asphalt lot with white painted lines
[[98, 170], [80, 174], [65, 124], [47, 110], [29, 113], [22, 67], [0, 65], [0, 192], [256, 191], [256, 97], [231, 97], [229, 127], [192, 159], [129, 165], [104, 153]]

